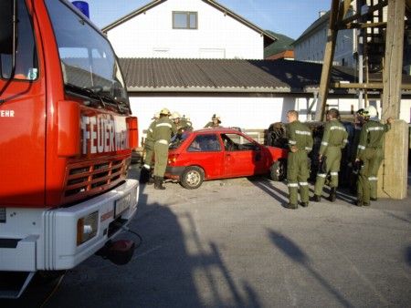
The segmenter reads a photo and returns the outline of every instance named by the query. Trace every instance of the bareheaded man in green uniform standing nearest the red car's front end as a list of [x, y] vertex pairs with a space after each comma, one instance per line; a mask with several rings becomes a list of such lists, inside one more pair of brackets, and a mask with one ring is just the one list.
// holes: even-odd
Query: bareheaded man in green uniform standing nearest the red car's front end
[[290, 193], [290, 202], [285, 206], [287, 209], [298, 208], [298, 190], [300, 186], [301, 206], [309, 205], [308, 178], [310, 171], [308, 167], [308, 153], [312, 149], [311, 130], [299, 121], [299, 113], [296, 110], [287, 112], [287, 138], [289, 140], [289, 155], [287, 160], [287, 181]]

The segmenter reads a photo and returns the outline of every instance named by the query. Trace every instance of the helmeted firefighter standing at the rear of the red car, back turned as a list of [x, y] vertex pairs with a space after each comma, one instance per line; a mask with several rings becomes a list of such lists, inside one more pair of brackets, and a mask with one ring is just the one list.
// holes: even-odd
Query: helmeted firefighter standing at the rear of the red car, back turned
[[163, 177], [167, 167], [168, 145], [172, 136], [177, 132], [174, 122], [169, 118], [170, 111], [163, 108], [160, 111], [160, 118], [155, 122], [153, 129], [154, 139], [154, 189], [165, 190], [163, 187]]

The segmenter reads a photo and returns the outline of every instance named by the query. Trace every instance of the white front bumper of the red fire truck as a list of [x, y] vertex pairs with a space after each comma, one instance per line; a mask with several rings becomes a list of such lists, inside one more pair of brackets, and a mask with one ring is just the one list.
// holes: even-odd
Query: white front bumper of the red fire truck
[[68, 208], [6, 208], [0, 271], [68, 270], [121, 232], [137, 210], [137, 180]]

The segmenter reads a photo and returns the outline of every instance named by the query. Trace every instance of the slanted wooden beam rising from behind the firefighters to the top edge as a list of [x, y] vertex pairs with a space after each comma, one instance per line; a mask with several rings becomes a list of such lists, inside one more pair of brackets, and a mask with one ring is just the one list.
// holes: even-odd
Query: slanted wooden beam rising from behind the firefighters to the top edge
[[330, 12], [330, 24], [327, 31], [327, 43], [325, 44], [324, 62], [321, 69], [320, 90], [317, 102], [315, 119], [321, 121], [324, 118], [325, 103], [328, 97], [332, 60], [334, 58], [335, 41], [337, 39], [337, 22], [340, 11], [340, 0], [332, 0]]

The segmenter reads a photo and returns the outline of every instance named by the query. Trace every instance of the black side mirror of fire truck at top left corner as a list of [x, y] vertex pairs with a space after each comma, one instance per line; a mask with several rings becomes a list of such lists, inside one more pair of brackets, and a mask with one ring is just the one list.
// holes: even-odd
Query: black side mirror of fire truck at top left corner
[[[2, 0], [0, 10], [0, 54], [13, 53], [13, 0]], [[4, 9], [3, 9], [4, 8]]]

